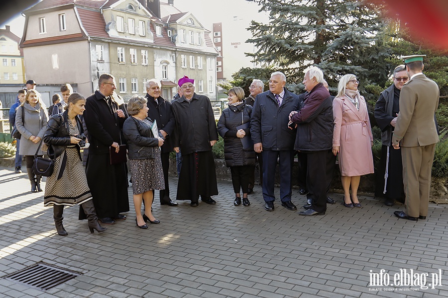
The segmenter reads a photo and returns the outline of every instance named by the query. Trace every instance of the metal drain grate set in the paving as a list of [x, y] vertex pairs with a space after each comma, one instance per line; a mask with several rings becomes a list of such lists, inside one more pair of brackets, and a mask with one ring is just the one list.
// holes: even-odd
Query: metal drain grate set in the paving
[[66, 281], [79, 275], [81, 275], [81, 273], [58, 268], [45, 263], [38, 263], [11, 273], [4, 278], [45, 291], [65, 283]]

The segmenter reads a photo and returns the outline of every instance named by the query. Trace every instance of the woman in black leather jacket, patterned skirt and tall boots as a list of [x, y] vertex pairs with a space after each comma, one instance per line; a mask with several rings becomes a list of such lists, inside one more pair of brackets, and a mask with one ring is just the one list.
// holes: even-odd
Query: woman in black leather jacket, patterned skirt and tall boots
[[91, 233], [95, 229], [98, 232], [106, 230], [98, 223], [80, 152], [86, 145], [79, 118], [85, 104], [86, 99], [81, 94], [72, 93], [65, 111], [51, 116], [43, 137], [49, 146], [47, 154], [55, 162], [53, 174], [45, 185], [44, 206], [53, 206], [54, 223], [61, 236], [68, 234], [62, 225], [64, 206], [81, 205]]

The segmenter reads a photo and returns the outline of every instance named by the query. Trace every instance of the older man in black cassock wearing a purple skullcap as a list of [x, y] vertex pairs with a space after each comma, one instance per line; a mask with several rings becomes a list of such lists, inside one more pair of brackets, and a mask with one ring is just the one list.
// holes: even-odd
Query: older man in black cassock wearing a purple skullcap
[[173, 143], [182, 152], [182, 167], [177, 186], [177, 200], [190, 200], [198, 206], [199, 196], [207, 204], [216, 204], [218, 195], [215, 160], [212, 147], [218, 141], [218, 130], [210, 99], [195, 93], [194, 79], [179, 79], [183, 95], [171, 103], [176, 133]]

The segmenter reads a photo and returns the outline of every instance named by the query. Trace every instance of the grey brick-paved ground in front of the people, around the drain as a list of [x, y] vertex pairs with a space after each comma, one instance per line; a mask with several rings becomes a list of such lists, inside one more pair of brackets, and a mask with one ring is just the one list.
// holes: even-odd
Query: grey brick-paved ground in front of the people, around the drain
[[[170, 183], [175, 195], [177, 179]], [[186, 201], [160, 206], [156, 192], [153, 213], [161, 224], [143, 230], [135, 226], [130, 187], [126, 221], [90, 234], [78, 208], [66, 208], [63, 237], [43, 193], [29, 192], [26, 174], [0, 168], [0, 297], [448, 297], [445, 205], [430, 204], [427, 220], [411, 222], [393, 216], [400, 204], [360, 197], [363, 207], [348, 209], [333, 194], [336, 205], [310, 218], [279, 199], [274, 212], [264, 211], [259, 186], [249, 207], [233, 206], [230, 183], [218, 188], [216, 205], [200, 201], [197, 208]], [[305, 201], [293, 190], [298, 207]], [[40, 261], [82, 275], [46, 292], [3, 279]], [[413, 269], [415, 282], [426, 286], [441, 269], [442, 286], [370, 286], [370, 270], [381, 269], [391, 283], [400, 270]]]

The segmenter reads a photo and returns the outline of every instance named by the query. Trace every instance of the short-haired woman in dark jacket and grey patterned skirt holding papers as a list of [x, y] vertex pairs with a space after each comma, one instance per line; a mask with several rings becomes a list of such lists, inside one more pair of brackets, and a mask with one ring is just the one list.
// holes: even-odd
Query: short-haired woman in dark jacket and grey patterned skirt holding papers
[[[159, 224], [151, 212], [154, 189], [164, 189], [165, 180], [162, 171], [160, 147], [164, 139], [159, 129], [148, 117], [146, 98], [134, 95], [127, 102], [130, 117], [124, 121], [123, 134], [127, 140], [129, 169], [132, 179], [132, 192], [135, 207], [135, 224], [139, 228], [148, 228], [146, 222]], [[153, 131], [156, 135], [154, 135]], [[141, 202], [145, 212], [141, 215]]]

